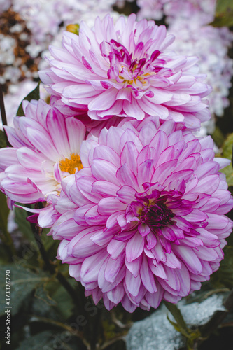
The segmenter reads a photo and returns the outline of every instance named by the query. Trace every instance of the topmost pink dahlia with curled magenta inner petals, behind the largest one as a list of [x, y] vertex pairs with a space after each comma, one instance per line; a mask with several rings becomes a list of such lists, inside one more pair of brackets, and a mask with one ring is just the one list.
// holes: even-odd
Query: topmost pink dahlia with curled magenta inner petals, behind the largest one
[[40, 72], [41, 80], [95, 120], [155, 115], [198, 129], [210, 117], [202, 101], [210, 87], [197, 73], [197, 57], [168, 50], [174, 36], [165, 26], [135, 18], [120, 16], [114, 24], [107, 15], [92, 29], [81, 22], [79, 35], [65, 31], [63, 48], [50, 47], [51, 67]]

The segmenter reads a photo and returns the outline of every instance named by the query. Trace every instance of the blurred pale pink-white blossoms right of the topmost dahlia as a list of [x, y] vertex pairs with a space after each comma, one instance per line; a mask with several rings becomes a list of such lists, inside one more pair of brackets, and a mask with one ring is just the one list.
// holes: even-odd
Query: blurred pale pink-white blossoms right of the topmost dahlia
[[209, 25], [216, 0], [137, 0], [137, 4], [139, 18], [161, 20], [165, 16], [169, 33], [176, 36], [171, 45], [174, 51], [199, 58], [199, 73], [206, 74], [206, 83], [213, 88], [211, 113], [223, 116], [233, 76], [233, 60], [227, 55], [233, 34], [227, 27]]

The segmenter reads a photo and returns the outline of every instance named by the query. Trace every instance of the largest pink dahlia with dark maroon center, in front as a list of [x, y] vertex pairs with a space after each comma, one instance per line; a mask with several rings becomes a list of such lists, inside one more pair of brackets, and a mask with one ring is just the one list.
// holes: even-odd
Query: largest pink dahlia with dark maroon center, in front
[[107, 309], [177, 302], [223, 259], [233, 200], [218, 170], [229, 161], [214, 158], [211, 137], [176, 129], [149, 117], [102, 130], [55, 197], [58, 258]]

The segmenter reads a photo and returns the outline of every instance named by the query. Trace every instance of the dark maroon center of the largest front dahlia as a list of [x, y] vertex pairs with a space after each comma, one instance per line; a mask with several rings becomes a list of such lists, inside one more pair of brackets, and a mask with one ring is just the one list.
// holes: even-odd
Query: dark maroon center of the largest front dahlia
[[174, 216], [175, 214], [165, 204], [151, 204], [141, 211], [140, 221], [146, 223], [150, 230], [156, 231], [157, 228], [173, 225], [175, 223], [172, 220]]

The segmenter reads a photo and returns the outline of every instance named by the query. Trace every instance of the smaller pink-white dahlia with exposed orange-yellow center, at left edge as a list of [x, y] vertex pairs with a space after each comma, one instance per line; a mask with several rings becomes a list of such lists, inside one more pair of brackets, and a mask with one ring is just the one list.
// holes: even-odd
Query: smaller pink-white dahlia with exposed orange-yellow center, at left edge
[[23, 106], [25, 117], [15, 117], [14, 128], [5, 127], [13, 147], [0, 150], [0, 188], [10, 200], [34, 203], [58, 194], [62, 179], [83, 167], [85, 127], [43, 100]]

